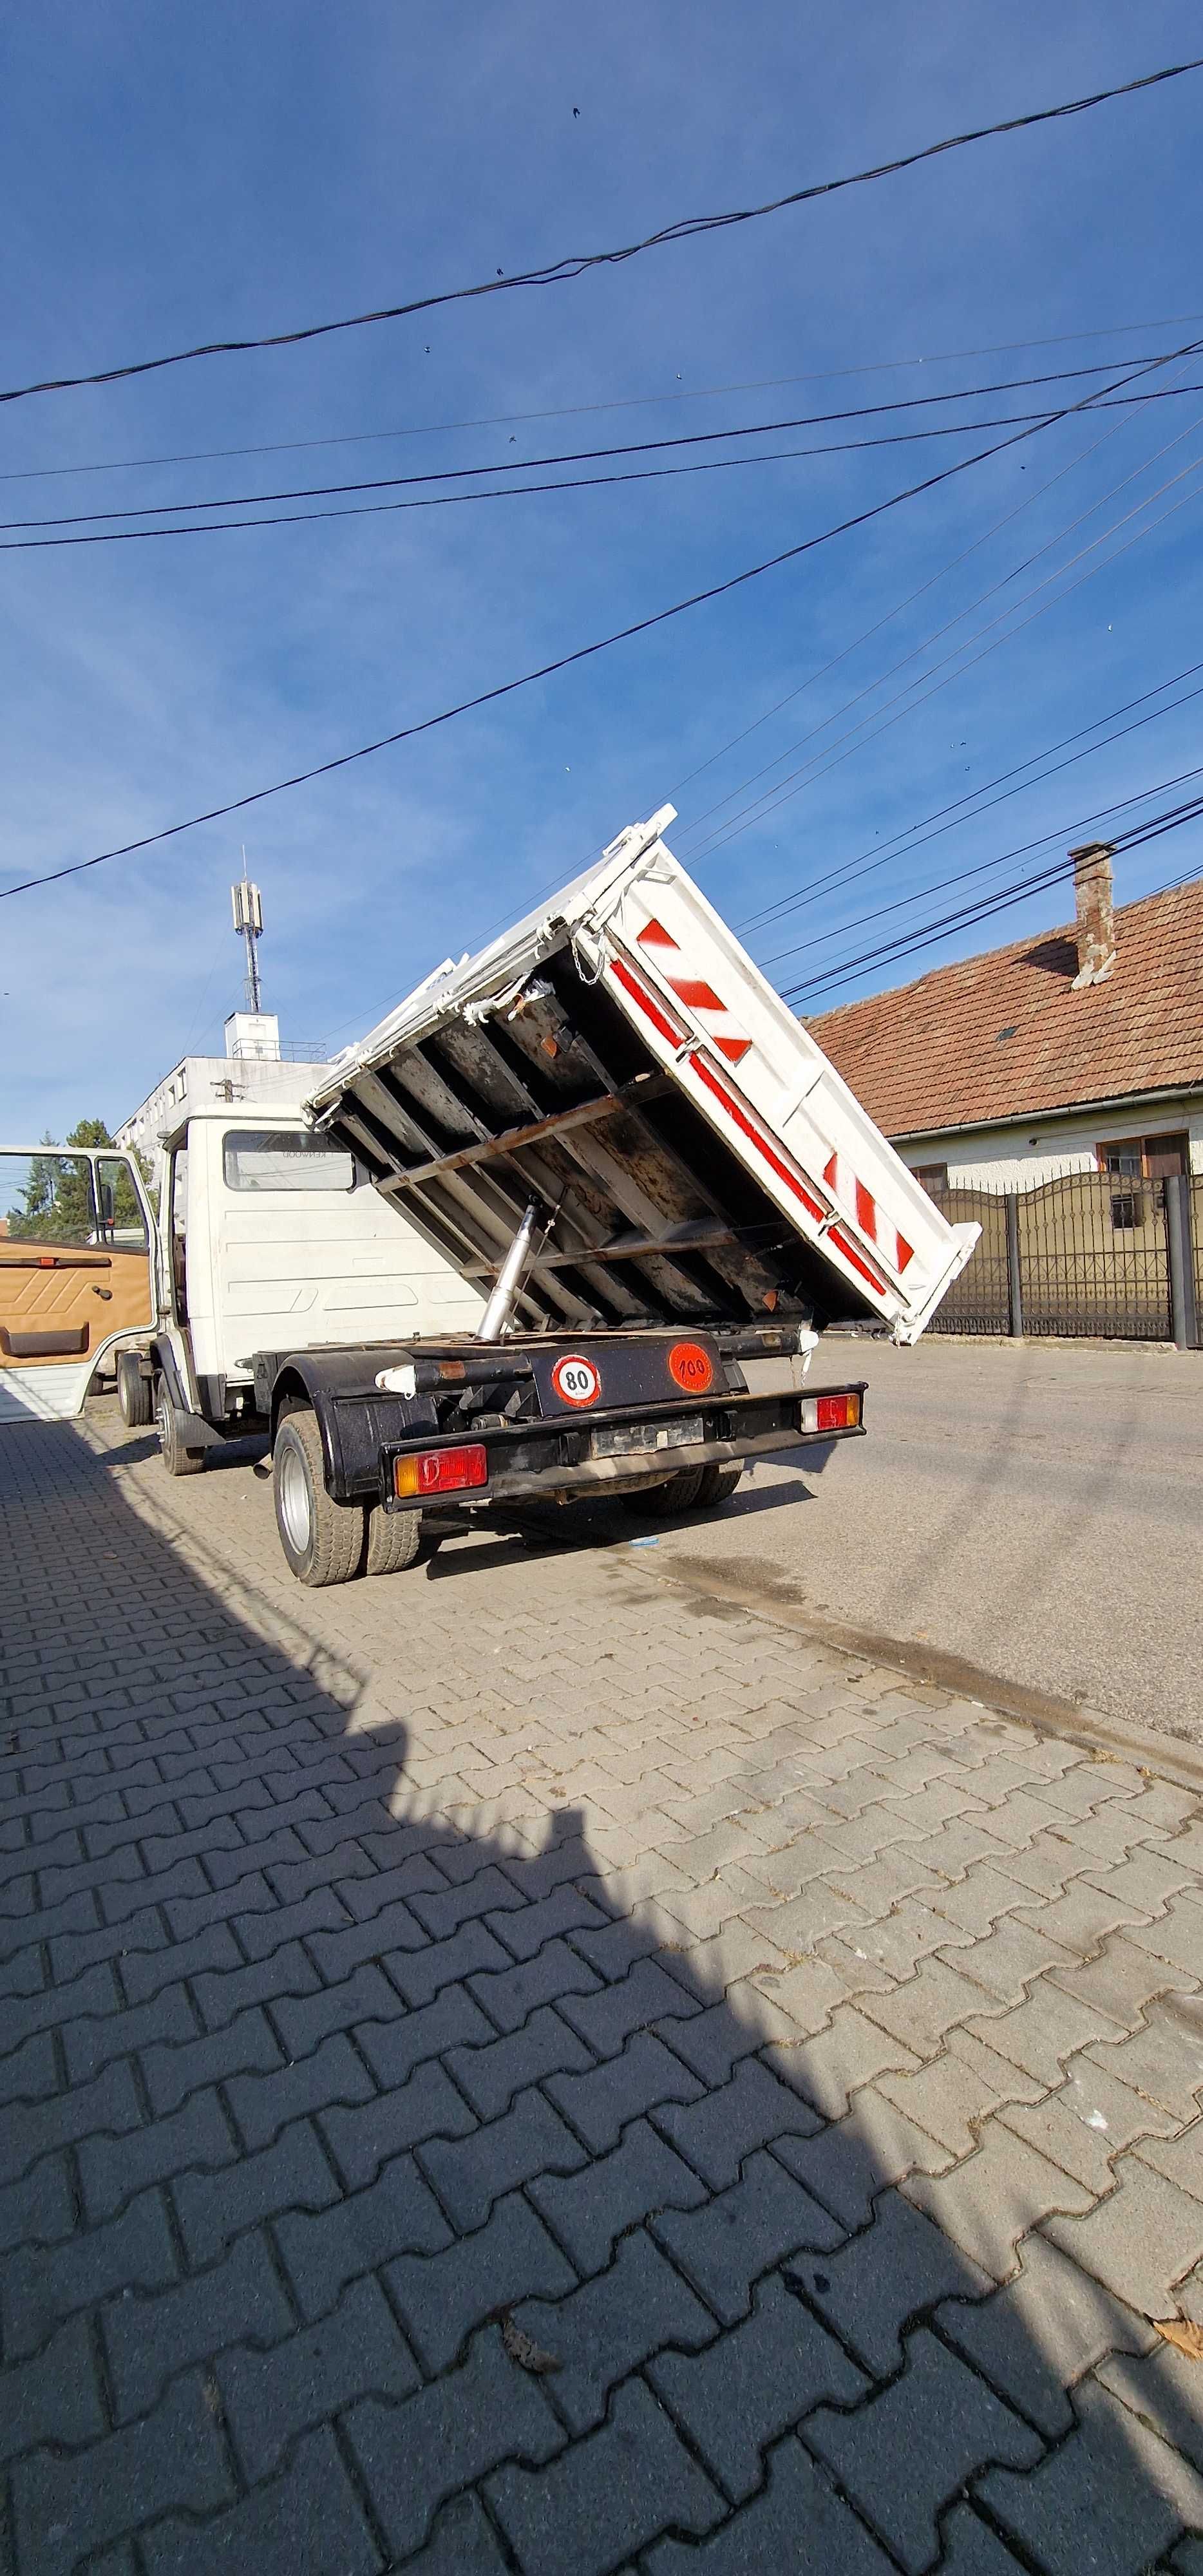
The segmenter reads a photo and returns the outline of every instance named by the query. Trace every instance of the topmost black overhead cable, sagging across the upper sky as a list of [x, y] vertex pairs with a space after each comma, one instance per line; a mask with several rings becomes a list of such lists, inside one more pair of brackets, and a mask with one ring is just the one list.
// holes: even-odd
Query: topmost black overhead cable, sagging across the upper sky
[[1121, 80], [1110, 90], [1092, 90], [1087, 98], [1066, 98], [1056, 108], [1028, 108], [1023, 116], [1002, 116], [992, 126], [974, 126], [966, 134], [945, 134], [935, 144], [920, 144], [917, 152], [902, 152], [894, 160], [876, 162], [871, 170], [850, 170], [842, 178], [814, 180], [809, 188], [791, 188], [788, 196], [768, 198], [763, 206], [737, 206], [726, 214], [677, 216], [677, 222], [662, 224], [659, 232], [649, 232], [639, 242], [623, 242], [618, 250], [569, 252], [544, 268], [518, 270], [513, 278], [497, 268], [492, 278], [482, 278], [477, 286], [453, 286], [443, 294], [410, 296], [407, 304], [381, 304], [374, 312], [343, 314], [335, 322], [304, 322], [296, 330], [260, 332], [247, 340], [201, 340], [196, 348], [170, 350], [160, 358], [134, 358], [124, 366], [95, 368], [88, 376], [41, 376], [36, 384], [8, 386], [8, 392], [0, 392], [0, 402], [26, 402], [31, 394], [67, 394], [85, 384], [121, 384], [126, 376], [152, 376], [165, 366], [188, 366], [193, 358], [232, 358], [255, 348], [296, 348], [301, 340], [325, 340], [332, 332], [366, 330], [376, 322], [404, 322], [410, 314], [435, 312], [443, 304], [466, 304], [477, 296], [513, 294], [518, 286], [564, 286], [587, 276], [590, 268], [618, 268], [626, 260], [636, 260], [644, 250], [665, 250], [670, 242], [693, 242], [703, 232], [729, 232], [734, 224], [755, 224], [768, 214], [783, 214], [788, 206], [806, 206], [819, 196], [837, 196], [842, 188], [860, 188], [868, 180], [894, 178], [899, 170], [914, 170], [920, 162], [938, 160], [943, 152], [963, 152], [969, 144], [989, 142], [997, 134], [1023, 134], [1028, 126], [1046, 126], [1066, 116], [1085, 116], [1090, 108], [1103, 108], [1113, 98], [1133, 98], [1136, 90], [1154, 90], [1167, 80], [1182, 80], [1188, 72], [1198, 70], [1203, 70], [1203, 54], [1195, 54], [1190, 62], [1164, 64], [1159, 72], [1141, 72], [1139, 80]]

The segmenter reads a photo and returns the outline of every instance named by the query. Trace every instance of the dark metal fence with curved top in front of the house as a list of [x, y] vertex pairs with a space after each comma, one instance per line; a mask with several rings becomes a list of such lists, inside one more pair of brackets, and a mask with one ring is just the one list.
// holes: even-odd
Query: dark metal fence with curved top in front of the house
[[1030, 1190], [933, 1190], [981, 1226], [933, 1332], [1200, 1345], [1203, 1177], [1056, 1172]]

